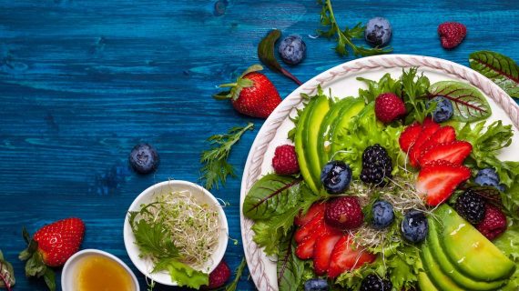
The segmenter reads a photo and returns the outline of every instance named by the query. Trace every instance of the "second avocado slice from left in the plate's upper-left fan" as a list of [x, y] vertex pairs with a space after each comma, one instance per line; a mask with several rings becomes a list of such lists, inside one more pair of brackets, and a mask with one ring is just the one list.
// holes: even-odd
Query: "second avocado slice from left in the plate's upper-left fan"
[[[303, 136], [306, 135], [306, 143], [303, 146], [306, 153], [308, 167], [310, 168], [310, 176], [317, 188], [321, 186], [321, 159], [319, 157], [318, 141], [319, 131], [324, 116], [330, 111], [331, 99], [327, 95], [319, 95], [315, 99], [315, 105], [312, 106], [311, 111], [306, 120], [306, 130]], [[304, 137], [303, 137], [304, 138]]]

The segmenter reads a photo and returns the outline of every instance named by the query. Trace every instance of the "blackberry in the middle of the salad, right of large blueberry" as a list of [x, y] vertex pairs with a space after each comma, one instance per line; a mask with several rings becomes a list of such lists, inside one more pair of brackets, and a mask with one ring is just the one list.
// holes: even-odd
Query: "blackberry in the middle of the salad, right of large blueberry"
[[379, 144], [368, 146], [362, 154], [361, 180], [364, 183], [384, 186], [384, 177], [392, 177], [392, 160]]

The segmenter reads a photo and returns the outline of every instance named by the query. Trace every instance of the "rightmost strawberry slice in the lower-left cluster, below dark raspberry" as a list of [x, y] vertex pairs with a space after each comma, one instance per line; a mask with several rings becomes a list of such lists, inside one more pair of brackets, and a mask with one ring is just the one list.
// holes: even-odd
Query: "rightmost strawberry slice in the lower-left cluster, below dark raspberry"
[[368, 253], [363, 247], [355, 246], [351, 236], [342, 236], [331, 251], [328, 276], [334, 278], [346, 271], [372, 263], [376, 258], [377, 256]]

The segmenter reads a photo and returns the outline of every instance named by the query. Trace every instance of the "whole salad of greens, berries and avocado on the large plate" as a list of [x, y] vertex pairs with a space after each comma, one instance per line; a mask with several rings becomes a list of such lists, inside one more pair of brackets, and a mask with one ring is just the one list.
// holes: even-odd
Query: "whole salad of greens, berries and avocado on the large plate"
[[[318, 88], [243, 215], [280, 290], [517, 290], [519, 162], [483, 94], [418, 68]], [[295, 170], [294, 170], [295, 169]]]

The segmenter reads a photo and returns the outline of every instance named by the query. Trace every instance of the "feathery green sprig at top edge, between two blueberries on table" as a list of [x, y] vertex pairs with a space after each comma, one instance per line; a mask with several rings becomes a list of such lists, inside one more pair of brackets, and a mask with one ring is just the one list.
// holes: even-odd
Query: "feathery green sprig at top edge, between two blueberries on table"
[[331, 0], [319, 0], [319, 4], [322, 5], [321, 9], [321, 26], [328, 28], [328, 30], [319, 30], [319, 34], [326, 36], [327, 38], [332, 38], [333, 36], [337, 39], [337, 45], [335, 46], [335, 51], [339, 55], [349, 55], [348, 49], [346, 45], [348, 45], [353, 52], [353, 55], [382, 55], [392, 52], [392, 48], [385, 47], [365, 47], [355, 45], [353, 43], [354, 38], [362, 38], [364, 37], [364, 25], [361, 23], [353, 26], [352, 28], [345, 27], [344, 30], [341, 30], [341, 26], [337, 24], [337, 20], [335, 19], [335, 15], [333, 15], [333, 9], [331, 8]]

